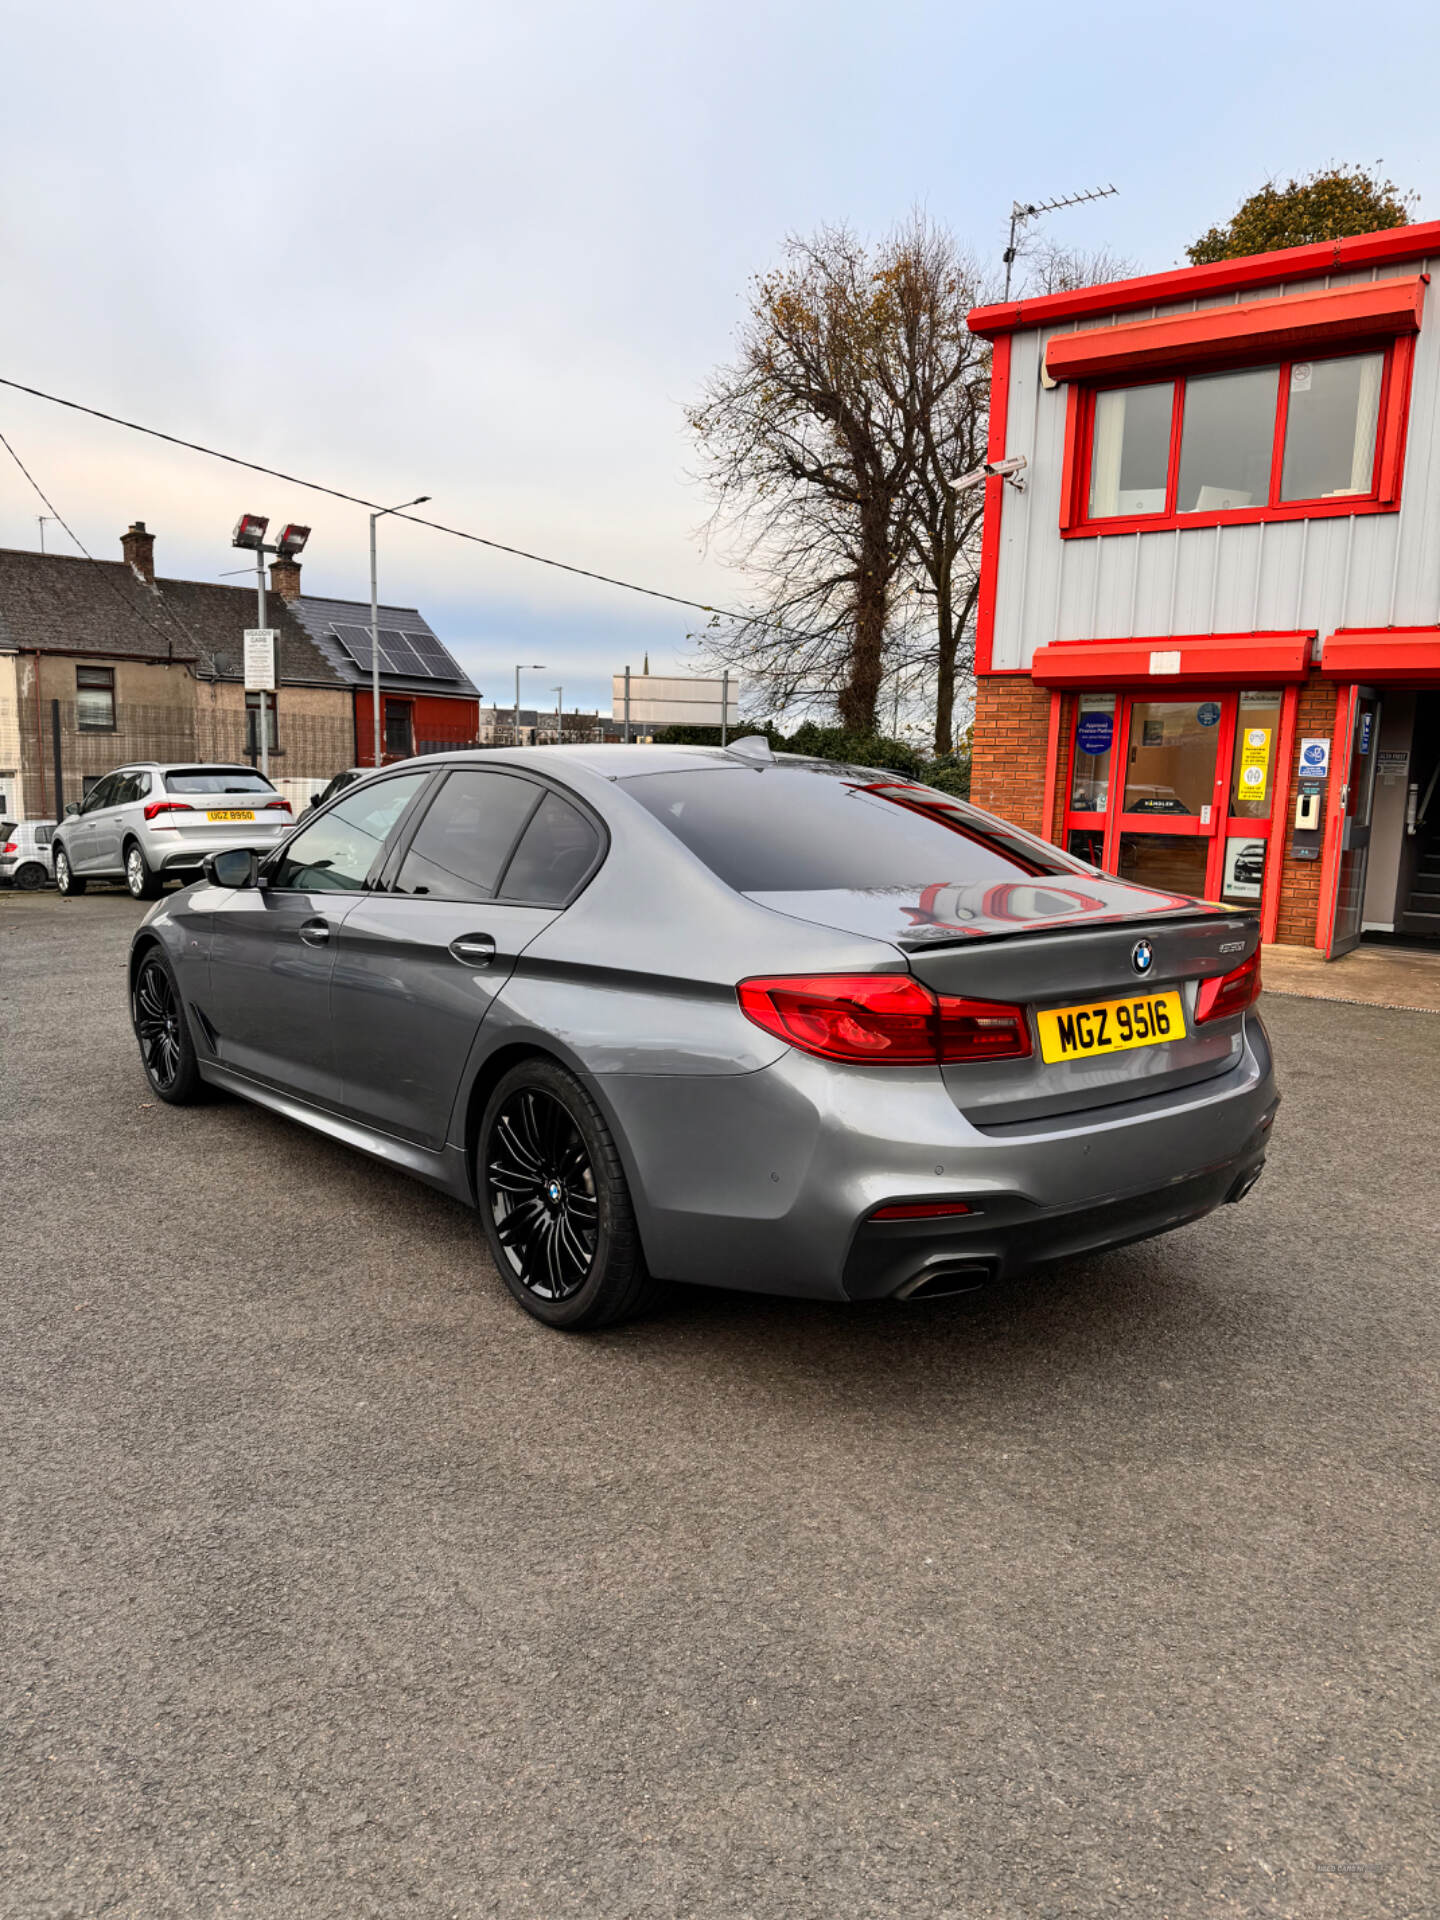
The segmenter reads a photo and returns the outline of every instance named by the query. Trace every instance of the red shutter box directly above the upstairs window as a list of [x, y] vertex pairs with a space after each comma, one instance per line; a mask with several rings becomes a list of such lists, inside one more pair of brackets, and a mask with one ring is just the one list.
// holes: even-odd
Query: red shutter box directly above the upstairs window
[[1413, 334], [1419, 332], [1425, 307], [1425, 275], [1361, 280], [1331, 294], [1246, 300], [1235, 307], [1167, 313], [1158, 321], [1131, 321], [1127, 326], [1052, 334], [1044, 349], [1044, 371], [1052, 380], [1083, 380], [1089, 374], [1194, 367], [1235, 353], [1290, 353]]

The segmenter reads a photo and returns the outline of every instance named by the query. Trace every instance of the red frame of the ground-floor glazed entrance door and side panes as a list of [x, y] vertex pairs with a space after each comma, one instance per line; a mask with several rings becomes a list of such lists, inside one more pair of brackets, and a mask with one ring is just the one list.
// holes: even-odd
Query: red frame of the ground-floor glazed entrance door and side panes
[[[1296, 735], [1296, 708], [1300, 703], [1300, 689], [1294, 685], [1283, 687], [1281, 691], [1281, 718], [1275, 739], [1275, 760], [1271, 762], [1271, 781], [1269, 781], [1269, 814], [1256, 820], [1248, 814], [1233, 814], [1233, 768], [1235, 768], [1235, 728], [1236, 714], [1240, 707], [1240, 687], [1200, 687], [1185, 685], [1181, 687], [1158, 687], [1144, 685], [1131, 691], [1116, 691], [1112, 687], [1104, 689], [1116, 697], [1116, 722], [1110, 743], [1110, 789], [1106, 795], [1106, 806], [1100, 812], [1083, 812], [1073, 808], [1071, 795], [1075, 793], [1075, 728], [1079, 724], [1081, 701], [1079, 695], [1073, 699], [1069, 708], [1069, 737], [1060, 743], [1060, 772], [1064, 778], [1064, 828], [1060, 835], [1060, 845], [1069, 849], [1071, 833], [1098, 833], [1102, 835], [1104, 854], [1098, 862], [1106, 874], [1117, 872], [1119, 866], [1119, 835], [1121, 833], [1169, 833], [1187, 835], [1196, 839], [1208, 839], [1206, 854], [1206, 899], [1219, 900], [1221, 887], [1225, 881], [1225, 843], [1227, 839], [1263, 839], [1265, 851], [1265, 877], [1261, 881], [1260, 902], [1231, 902], [1236, 912], [1260, 912], [1261, 937], [1267, 941], [1275, 939], [1275, 929], [1281, 914], [1281, 868], [1284, 854], [1284, 808], [1288, 803], [1288, 781], [1290, 781], [1290, 758], [1294, 755], [1294, 735]], [[1275, 689], [1263, 689], [1275, 691]], [[1213, 797], [1210, 803], [1210, 820], [1202, 820], [1198, 814], [1127, 814], [1123, 812], [1125, 799], [1125, 770], [1129, 768], [1129, 739], [1131, 739], [1131, 714], [1135, 707], [1144, 707], [1152, 701], [1213, 701], [1219, 707], [1217, 735], [1215, 735], [1215, 783]]]

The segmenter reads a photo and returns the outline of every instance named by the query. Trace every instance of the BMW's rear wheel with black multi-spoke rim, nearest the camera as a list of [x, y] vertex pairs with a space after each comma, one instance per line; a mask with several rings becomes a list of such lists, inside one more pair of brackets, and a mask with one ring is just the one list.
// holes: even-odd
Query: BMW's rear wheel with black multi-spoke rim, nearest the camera
[[660, 1300], [614, 1137], [557, 1062], [522, 1060], [495, 1085], [474, 1171], [490, 1252], [526, 1313], [589, 1332]]

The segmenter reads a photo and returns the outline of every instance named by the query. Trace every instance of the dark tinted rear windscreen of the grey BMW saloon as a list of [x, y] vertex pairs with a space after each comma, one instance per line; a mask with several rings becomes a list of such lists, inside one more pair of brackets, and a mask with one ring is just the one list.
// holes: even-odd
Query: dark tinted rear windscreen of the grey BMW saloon
[[737, 893], [1085, 872], [964, 801], [856, 766], [714, 766], [624, 789]]

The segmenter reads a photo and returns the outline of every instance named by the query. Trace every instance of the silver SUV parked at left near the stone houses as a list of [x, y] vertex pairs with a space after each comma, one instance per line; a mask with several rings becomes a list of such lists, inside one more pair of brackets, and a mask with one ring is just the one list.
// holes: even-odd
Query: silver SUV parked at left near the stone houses
[[65, 808], [52, 849], [56, 885], [75, 895], [90, 879], [123, 879], [136, 900], [154, 900], [167, 879], [196, 879], [205, 854], [267, 852], [294, 824], [290, 801], [253, 766], [142, 760]]

